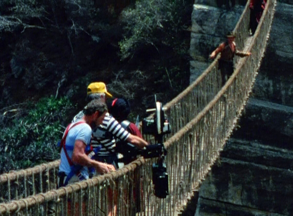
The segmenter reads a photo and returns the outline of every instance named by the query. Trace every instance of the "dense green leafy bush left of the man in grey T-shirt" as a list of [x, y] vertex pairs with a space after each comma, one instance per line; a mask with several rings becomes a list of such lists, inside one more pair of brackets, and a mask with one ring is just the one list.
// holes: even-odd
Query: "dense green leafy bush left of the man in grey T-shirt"
[[0, 131], [0, 173], [57, 159], [56, 143], [71, 108], [67, 98], [43, 98], [28, 105], [26, 115], [6, 124]]

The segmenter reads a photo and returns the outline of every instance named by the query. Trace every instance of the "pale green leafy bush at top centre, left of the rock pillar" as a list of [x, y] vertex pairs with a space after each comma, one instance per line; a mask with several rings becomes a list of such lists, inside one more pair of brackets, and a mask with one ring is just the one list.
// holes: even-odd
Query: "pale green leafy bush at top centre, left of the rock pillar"
[[135, 8], [121, 13], [124, 37], [119, 42], [122, 59], [133, 56], [143, 46], [171, 46], [178, 54], [183, 51], [180, 45], [180, 32], [187, 29], [192, 6], [181, 1], [137, 1]]

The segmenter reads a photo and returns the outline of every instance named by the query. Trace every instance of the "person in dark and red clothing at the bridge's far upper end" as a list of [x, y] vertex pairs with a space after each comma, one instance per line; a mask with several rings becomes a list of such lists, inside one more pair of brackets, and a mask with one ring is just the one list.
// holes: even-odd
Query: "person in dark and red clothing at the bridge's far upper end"
[[254, 34], [258, 23], [260, 21], [263, 10], [267, 0], [250, 0], [249, 9], [250, 9], [250, 20], [249, 20], [249, 29], [251, 30], [251, 35]]

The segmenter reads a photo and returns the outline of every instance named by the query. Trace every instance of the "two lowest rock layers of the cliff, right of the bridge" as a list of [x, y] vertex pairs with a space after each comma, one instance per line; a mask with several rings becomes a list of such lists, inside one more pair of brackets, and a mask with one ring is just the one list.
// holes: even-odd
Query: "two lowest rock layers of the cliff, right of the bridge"
[[293, 215], [292, 161], [292, 150], [230, 139], [200, 188], [195, 215]]

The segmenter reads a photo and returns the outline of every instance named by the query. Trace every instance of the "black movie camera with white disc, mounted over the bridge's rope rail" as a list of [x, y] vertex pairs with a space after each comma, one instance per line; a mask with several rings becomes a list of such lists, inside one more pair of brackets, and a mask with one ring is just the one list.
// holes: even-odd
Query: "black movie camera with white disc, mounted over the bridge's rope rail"
[[156, 96], [155, 105], [156, 108], [147, 110], [147, 113], [153, 113], [142, 120], [142, 133], [154, 135], [156, 144], [150, 144], [144, 149], [136, 148], [130, 143], [117, 144], [116, 152], [123, 155], [122, 162], [124, 163], [136, 160], [139, 155], [144, 158], [158, 158], [157, 163], [152, 165], [154, 194], [159, 198], [166, 198], [169, 194], [169, 186], [167, 167], [164, 163], [167, 151], [163, 145], [163, 136], [171, 132], [171, 127], [162, 104], [156, 101]]

